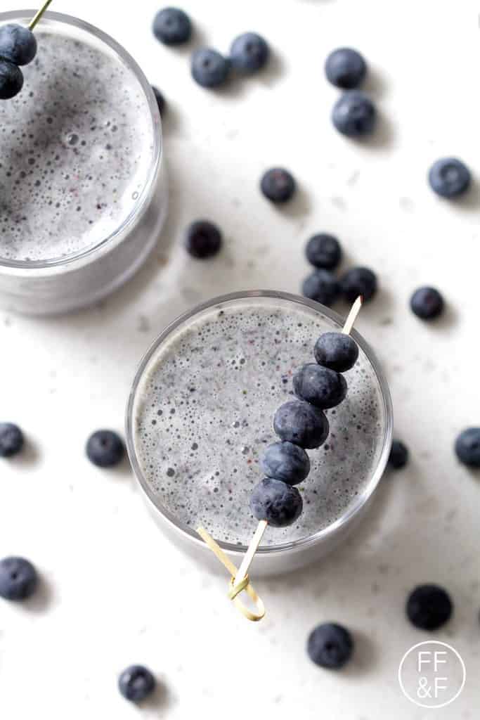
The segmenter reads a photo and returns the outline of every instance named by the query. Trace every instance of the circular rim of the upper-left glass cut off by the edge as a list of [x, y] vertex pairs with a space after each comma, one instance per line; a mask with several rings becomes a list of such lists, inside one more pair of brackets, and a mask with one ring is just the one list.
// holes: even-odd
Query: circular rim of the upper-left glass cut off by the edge
[[[17, 21], [20, 21], [22, 19], [30, 19], [35, 15], [36, 12], [36, 9], [9, 10], [8, 12], [0, 12], [0, 23], [3, 24], [6, 21], [14, 19], [17, 19]], [[82, 30], [89, 35], [96, 37], [97, 40], [100, 40], [100, 42], [104, 43], [104, 45], [107, 45], [110, 50], [113, 50], [114, 53], [116, 53], [119, 57], [119, 60], [124, 63], [124, 65], [130, 71], [132, 71], [132, 73], [135, 75], [135, 78], [140, 83], [142, 91], [145, 93], [148, 108], [150, 109], [150, 119], [152, 121], [153, 129], [152, 161], [150, 163], [148, 174], [145, 179], [145, 185], [140, 192], [140, 197], [137, 204], [135, 204], [135, 207], [131, 210], [127, 217], [124, 217], [124, 220], [122, 220], [118, 228], [115, 228], [115, 230], [113, 230], [112, 233], [109, 233], [106, 238], [102, 238], [101, 240], [99, 240], [99, 242], [94, 243], [94, 245], [91, 245], [78, 253], [72, 253], [71, 255], [35, 261], [7, 260], [6, 258], [2, 258], [0, 256], [1, 273], [12, 274], [16, 276], [31, 276], [33, 271], [36, 271], [37, 275], [41, 275], [55, 273], [62, 268], [73, 269], [75, 266], [81, 265], [85, 261], [88, 262], [90, 256], [94, 253], [97, 253], [101, 250], [106, 250], [109, 248], [109, 246], [113, 246], [115, 244], [115, 241], [122, 236], [124, 231], [134, 225], [134, 223], [137, 222], [138, 218], [141, 217], [141, 215], [147, 210], [148, 203], [150, 202], [151, 194], [153, 192], [155, 179], [158, 175], [158, 169], [160, 168], [160, 161], [163, 155], [161, 120], [160, 112], [158, 111], [158, 104], [155, 100], [152, 86], [148, 82], [148, 79], [146, 78], [145, 73], [142, 71], [142, 68], [140, 68], [140, 65], [134, 58], [132, 58], [132, 55], [130, 55], [130, 53], [128, 53], [127, 50], [125, 50], [124, 47], [120, 45], [119, 42], [117, 42], [117, 40], [114, 40], [114, 38], [108, 35], [106, 32], [100, 30], [98, 27], [92, 25], [89, 22], [86, 22], [85, 20], [81, 20], [78, 17], [73, 17], [73, 15], [68, 15], [62, 12], [47, 11], [43, 15], [42, 19], [43, 18], [47, 20], [53, 20], [54, 22], [58, 22], [59, 24], [78, 28], [78, 30]], [[155, 131], [155, 127], [157, 124], [160, 132]]]

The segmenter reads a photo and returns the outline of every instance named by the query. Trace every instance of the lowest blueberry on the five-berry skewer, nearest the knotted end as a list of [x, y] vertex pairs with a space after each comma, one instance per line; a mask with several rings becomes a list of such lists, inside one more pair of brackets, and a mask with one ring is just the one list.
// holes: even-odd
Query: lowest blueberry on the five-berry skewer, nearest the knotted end
[[266, 477], [250, 495], [250, 510], [257, 520], [266, 520], [274, 528], [294, 523], [302, 514], [302, 495], [287, 482]]

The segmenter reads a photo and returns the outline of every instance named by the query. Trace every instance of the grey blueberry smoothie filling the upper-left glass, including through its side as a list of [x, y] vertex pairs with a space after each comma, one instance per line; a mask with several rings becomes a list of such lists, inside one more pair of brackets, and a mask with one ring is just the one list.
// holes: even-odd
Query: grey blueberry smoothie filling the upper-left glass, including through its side
[[[0, 297], [22, 305], [24, 284], [14, 287], [11, 277], [22, 276], [46, 312], [96, 300], [130, 274], [155, 239], [165, 200], [153, 187], [160, 119], [150, 87], [111, 38], [75, 23], [47, 13], [22, 91], [0, 101], [0, 276], [8, 268]], [[121, 241], [134, 231], [126, 251]], [[101, 272], [92, 271], [105, 256]], [[37, 275], [53, 265], [73, 275], [60, 287], [58, 271], [45, 270], [45, 289]], [[35, 312], [35, 299], [27, 311]]]

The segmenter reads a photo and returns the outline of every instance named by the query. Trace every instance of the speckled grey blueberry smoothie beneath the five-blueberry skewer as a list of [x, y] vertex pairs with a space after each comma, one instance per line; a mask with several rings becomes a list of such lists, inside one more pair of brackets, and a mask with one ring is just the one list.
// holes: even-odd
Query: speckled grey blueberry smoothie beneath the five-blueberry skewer
[[[150, 350], [132, 403], [134, 467], [150, 500], [179, 526], [248, 544], [259, 458], [277, 441], [272, 418], [292, 397], [292, 375], [312, 361], [321, 333], [337, 330], [309, 301], [245, 297], [179, 323]], [[384, 462], [384, 388], [366, 353], [345, 373], [348, 393], [327, 410], [330, 435], [309, 451], [298, 485], [303, 513], [268, 528], [264, 546], [304, 539], [350, 513]], [[388, 405], [388, 403], [387, 403]], [[381, 468], [380, 468], [381, 472]]]

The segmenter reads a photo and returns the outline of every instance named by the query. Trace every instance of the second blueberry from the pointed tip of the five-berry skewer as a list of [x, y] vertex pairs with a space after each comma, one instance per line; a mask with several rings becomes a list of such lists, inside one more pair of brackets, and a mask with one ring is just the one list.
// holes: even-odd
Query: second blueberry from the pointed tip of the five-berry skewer
[[294, 374], [293, 384], [296, 397], [322, 410], [335, 408], [347, 395], [343, 375], [317, 363], [302, 365]]

